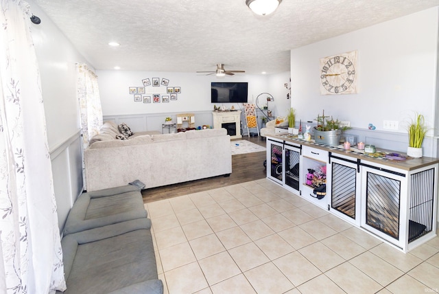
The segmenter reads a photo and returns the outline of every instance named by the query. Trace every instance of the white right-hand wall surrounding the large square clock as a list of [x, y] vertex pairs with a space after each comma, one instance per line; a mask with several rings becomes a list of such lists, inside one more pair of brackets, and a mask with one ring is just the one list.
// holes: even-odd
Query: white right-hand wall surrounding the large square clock
[[[348, 120], [356, 128], [399, 121], [414, 112], [434, 126], [438, 51], [438, 10], [431, 8], [363, 30], [329, 38], [291, 52], [292, 106], [302, 121], [318, 113]], [[319, 60], [358, 50], [358, 94], [320, 95]], [[431, 132], [432, 133], [432, 132]]]

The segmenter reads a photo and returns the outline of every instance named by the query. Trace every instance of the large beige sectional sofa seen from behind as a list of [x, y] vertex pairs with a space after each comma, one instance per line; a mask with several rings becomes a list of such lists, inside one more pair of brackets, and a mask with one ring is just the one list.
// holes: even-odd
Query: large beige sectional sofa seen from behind
[[136, 179], [145, 183], [145, 188], [154, 188], [232, 172], [230, 136], [224, 128], [134, 134], [126, 140], [108, 136], [84, 150], [84, 161], [88, 192]]

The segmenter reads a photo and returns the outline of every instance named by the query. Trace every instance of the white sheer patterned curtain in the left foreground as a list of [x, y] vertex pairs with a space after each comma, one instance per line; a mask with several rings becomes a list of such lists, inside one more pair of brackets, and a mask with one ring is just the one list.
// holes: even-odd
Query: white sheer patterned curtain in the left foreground
[[64, 267], [31, 15], [0, 3], [0, 293], [54, 293]]

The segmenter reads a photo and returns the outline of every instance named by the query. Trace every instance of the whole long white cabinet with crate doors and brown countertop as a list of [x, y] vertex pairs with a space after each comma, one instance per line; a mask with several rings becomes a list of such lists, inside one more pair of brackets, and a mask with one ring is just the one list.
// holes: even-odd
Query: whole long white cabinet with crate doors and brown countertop
[[[267, 162], [268, 179], [403, 252], [436, 236], [438, 159], [379, 160], [274, 135]], [[326, 174], [324, 197], [307, 182], [316, 170]]]

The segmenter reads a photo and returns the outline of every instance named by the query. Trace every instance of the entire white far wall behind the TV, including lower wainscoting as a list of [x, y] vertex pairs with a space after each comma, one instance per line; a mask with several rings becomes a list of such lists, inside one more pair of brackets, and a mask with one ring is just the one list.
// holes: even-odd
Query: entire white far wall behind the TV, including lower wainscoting
[[[284, 87], [285, 83], [289, 83], [289, 71], [269, 76], [236, 74], [224, 78], [196, 73], [151, 71], [97, 71], [97, 76], [104, 120], [126, 122], [133, 131], [161, 131], [165, 117], [173, 117], [175, 122], [177, 113], [194, 113], [195, 126], [211, 126], [214, 105], [211, 103], [211, 82], [248, 82], [248, 103], [256, 103], [257, 96], [261, 93], [272, 94], [274, 102], [270, 102], [268, 106], [273, 115], [285, 115], [290, 104], [287, 100], [289, 90]], [[181, 88], [178, 99], [169, 103], [134, 102], [134, 95], [130, 94], [128, 89], [143, 87], [142, 80], [145, 78], [149, 78], [150, 81], [152, 78], [169, 80], [168, 87]], [[143, 95], [152, 96], [152, 93], [165, 91], [165, 86], [147, 86]], [[259, 98], [258, 104], [261, 108], [265, 106], [265, 98]], [[242, 104], [237, 103], [226, 103], [224, 106], [227, 109], [231, 106], [242, 109]]]

